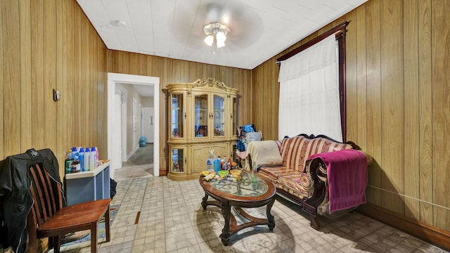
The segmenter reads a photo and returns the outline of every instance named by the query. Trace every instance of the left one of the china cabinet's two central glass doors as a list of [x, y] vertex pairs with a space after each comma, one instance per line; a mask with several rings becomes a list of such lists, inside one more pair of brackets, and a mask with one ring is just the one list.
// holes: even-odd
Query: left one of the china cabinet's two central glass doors
[[197, 138], [208, 136], [208, 118], [208, 95], [195, 95], [193, 136]]

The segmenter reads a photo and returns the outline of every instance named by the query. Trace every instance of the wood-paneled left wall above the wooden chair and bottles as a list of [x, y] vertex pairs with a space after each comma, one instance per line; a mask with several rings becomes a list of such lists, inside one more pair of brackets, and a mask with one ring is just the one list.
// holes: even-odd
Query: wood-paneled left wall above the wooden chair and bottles
[[[0, 157], [98, 146], [106, 157], [107, 48], [74, 0], [0, 1]], [[53, 101], [53, 89], [61, 100]]]

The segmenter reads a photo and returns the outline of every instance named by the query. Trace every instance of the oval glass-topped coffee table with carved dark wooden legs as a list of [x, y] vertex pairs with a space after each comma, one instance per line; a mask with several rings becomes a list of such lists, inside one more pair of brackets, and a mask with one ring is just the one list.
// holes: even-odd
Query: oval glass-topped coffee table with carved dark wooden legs
[[[214, 205], [221, 208], [225, 224], [220, 238], [224, 245], [228, 245], [231, 235], [244, 228], [268, 225], [269, 230], [274, 230], [275, 220], [270, 213], [270, 209], [275, 202], [276, 189], [271, 181], [257, 177], [257, 182], [252, 183], [247, 171], [242, 171], [236, 182], [227, 180], [205, 181], [203, 178], [204, 176], [200, 176], [199, 179], [200, 185], [205, 190], [202, 207], [206, 209], [208, 205]], [[208, 196], [214, 198], [214, 200], [208, 201]], [[267, 219], [251, 216], [241, 208], [262, 207], [264, 205], [266, 205]], [[231, 212], [231, 207], [248, 222], [238, 225]]]

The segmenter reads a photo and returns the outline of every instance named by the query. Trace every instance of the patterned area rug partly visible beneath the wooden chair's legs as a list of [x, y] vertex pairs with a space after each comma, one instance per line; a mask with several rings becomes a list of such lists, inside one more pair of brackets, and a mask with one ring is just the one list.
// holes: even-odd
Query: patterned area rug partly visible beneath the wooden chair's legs
[[[113, 225], [113, 221], [117, 212], [119, 212], [120, 205], [111, 205], [110, 206], [110, 224]], [[106, 228], [105, 228], [105, 217], [98, 223], [98, 238], [106, 237]], [[68, 246], [75, 243], [87, 242], [91, 240], [91, 231], [78, 231], [75, 233], [70, 233], [65, 235], [64, 238], [61, 239], [61, 246]]]

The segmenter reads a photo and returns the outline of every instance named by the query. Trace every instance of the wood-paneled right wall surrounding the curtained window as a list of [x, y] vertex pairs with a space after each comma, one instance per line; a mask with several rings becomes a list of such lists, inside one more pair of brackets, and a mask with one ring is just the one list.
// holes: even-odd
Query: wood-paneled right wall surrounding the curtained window
[[252, 70], [252, 122], [264, 138], [277, 138], [275, 59], [350, 21], [347, 140], [375, 160], [368, 202], [450, 231], [448, 13], [446, 0], [366, 2]]

